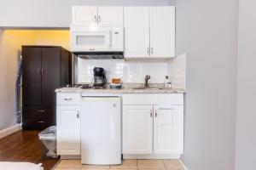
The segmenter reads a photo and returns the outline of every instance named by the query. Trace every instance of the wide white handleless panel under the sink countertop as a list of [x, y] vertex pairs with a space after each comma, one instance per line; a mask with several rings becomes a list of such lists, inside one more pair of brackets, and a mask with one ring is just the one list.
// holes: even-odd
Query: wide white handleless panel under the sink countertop
[[183, 94], [124, 94], [123, 105], [183, 105]]

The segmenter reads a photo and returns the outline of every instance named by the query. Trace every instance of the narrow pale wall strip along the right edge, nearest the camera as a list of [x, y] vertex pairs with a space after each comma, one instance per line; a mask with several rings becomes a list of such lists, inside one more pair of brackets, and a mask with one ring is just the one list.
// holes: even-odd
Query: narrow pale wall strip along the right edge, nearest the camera
[[256, 1], [240, 0], [237, 62], [236, 170], [256, 163]]

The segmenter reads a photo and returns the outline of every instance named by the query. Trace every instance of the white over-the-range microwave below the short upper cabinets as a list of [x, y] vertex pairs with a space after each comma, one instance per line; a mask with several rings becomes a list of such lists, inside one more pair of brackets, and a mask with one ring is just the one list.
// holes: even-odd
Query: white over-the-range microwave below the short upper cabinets
[[73, 25], [71, 50], [73, 52], [123, 52], [124, 27]]

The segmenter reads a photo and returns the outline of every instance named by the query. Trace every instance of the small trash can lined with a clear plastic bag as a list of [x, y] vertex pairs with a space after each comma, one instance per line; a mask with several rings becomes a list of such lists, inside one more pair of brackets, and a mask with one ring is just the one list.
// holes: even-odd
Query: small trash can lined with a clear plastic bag
[[41, 140], [43, 158], [57, 158], [56, 154], [56, 127], [48, 127], [38, 134]]

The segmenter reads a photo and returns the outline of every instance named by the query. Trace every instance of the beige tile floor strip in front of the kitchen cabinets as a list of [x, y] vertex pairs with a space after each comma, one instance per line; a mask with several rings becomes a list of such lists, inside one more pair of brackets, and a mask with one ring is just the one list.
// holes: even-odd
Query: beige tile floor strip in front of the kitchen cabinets
[[55, 170], [184, 170], [178, 160], [123, 160], [121, 165], [82, 165], [80, 160], [62, 160]]

